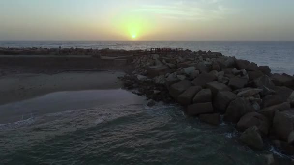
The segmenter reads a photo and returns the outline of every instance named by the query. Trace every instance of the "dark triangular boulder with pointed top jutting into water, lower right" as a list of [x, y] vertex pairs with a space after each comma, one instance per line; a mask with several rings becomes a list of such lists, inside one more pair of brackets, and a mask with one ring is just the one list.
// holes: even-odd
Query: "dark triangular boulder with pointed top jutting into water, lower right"
[[240, 140], [254, 149], [262, 150], [264, 147], [263, 140], [259, 135], [258, 128], [256, 126], [250, 127], [243, 132]]

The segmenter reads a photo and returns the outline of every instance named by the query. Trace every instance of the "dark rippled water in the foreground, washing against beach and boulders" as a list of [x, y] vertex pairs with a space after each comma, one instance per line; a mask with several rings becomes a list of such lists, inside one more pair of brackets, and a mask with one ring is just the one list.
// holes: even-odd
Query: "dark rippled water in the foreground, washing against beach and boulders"
[[264, 151], [241, 144], [235, 125], [202, 123], [177, 105], [147, 107], [145, 97], [122, 89], [2, 105], [0, 123], [1, 165], [266, 165], [268, 153], [291, 163], [266, 142]]

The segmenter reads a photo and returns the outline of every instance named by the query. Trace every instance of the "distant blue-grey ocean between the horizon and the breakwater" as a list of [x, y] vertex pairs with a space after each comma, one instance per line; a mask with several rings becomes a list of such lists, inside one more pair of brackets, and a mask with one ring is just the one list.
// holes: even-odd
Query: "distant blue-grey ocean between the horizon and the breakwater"
[[176, 47], [221, 52], [269, 66], [273, 73], [294, 74], [294, 41], [0, 41], [0, 47], [148, 49]]

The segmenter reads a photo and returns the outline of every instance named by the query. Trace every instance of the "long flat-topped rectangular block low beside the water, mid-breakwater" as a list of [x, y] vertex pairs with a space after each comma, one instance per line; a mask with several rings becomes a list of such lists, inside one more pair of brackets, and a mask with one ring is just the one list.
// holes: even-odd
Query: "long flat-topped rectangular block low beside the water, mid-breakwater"
[[213, 107], [211, 102], [191, 104], [188, 106], [187, 112], [189, 115], [192, 115], [192, 116], [199, 115], [202, 113], [212, 113]]

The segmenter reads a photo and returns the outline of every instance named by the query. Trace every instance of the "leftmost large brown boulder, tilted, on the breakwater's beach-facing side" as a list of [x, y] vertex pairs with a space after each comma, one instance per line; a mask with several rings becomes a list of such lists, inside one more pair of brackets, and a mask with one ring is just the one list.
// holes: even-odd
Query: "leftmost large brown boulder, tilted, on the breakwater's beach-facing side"
[[174, 83], [169, 88], [169, 94], [173, 98], [177, 98], [181, 93], [183, 93], [185, 90], [187, 90], [191, 86], [191, 82], [188, 80], [183, 80], [177, 83]]

